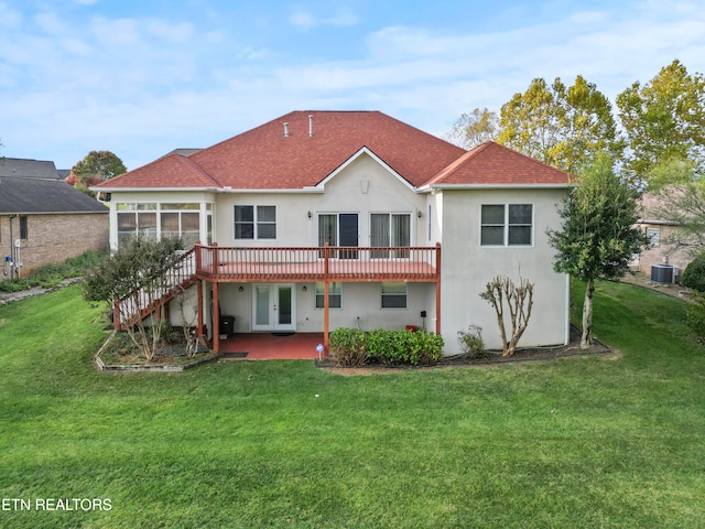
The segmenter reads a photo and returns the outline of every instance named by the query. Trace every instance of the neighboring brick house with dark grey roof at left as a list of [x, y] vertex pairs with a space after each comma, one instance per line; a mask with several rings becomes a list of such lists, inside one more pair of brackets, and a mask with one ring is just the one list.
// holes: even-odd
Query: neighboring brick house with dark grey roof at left
[[106, 251], [108, 208], [59, 180], [54, 162], [0, 158], [3, 278]]

